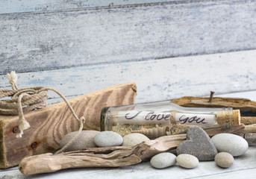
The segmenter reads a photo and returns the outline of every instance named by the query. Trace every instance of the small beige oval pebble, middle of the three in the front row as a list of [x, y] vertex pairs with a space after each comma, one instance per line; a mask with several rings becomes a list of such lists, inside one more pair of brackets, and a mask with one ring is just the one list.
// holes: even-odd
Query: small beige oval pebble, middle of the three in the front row
[[199, 165], [199, 160], [190, 154], [179, 154], [178, 157], [176, 157], [176, 162], [179, 166], [186, 169], [193, 169]]

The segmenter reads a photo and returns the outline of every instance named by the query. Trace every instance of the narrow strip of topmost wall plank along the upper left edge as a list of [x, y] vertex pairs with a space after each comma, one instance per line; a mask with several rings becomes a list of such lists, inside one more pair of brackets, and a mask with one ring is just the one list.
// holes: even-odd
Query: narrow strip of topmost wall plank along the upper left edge
[[[1, 0], [1, 13], [49, 12], [53, 10], [83, 10], [92, 7], [113, 7], [177, 0]], [[186, 1], [186, 0], [179, 0]]]

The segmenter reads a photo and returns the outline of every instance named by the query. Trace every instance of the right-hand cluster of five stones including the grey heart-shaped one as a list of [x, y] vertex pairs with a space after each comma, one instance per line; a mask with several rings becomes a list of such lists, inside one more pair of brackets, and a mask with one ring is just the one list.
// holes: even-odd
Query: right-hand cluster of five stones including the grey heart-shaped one
[[214, 160], [217, 166], [228, 168], [233, 165], [234, 157], [245, 154], [248, 148], [248, 142], [241, 136], [216, 134], [210, 139], [202, 128], [193, 127], [187, 131], [187, 140], [178, 145], [177, 157], [171, 153], [157, 154], [152, 157], [151, 165], [164, 169], [177, 162], [178, 166], [193, 169], [199, 165], [199, 161]]

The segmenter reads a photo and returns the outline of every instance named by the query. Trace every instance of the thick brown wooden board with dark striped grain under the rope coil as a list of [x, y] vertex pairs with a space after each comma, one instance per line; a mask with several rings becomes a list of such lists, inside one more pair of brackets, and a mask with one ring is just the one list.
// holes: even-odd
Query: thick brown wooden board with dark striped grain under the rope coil
[[[119, 84], [91, 92], [69, 100], [78, 117], [84, 116], [84, 129], [99, 130], [100, 113], [103, 107], [133, 104], [137, 88], [134, 83]], [[0, 116], [0, 168], [19, 164], [20, 160], [34, 154], [57, 150], [60, 139], [79, 124], [62, 102], [25, 114], [31, 128], [16, 138], [18, 116]]]

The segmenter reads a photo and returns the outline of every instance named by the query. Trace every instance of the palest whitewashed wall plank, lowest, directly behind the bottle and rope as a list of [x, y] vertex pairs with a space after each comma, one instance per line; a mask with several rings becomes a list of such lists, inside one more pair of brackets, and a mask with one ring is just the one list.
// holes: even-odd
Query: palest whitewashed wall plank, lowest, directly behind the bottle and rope
[[[209, 96], [224, 92], [255, 90], [256, 50], [191, 57], [174, 57], [131, 63], [82, 66], [44, 72], [18, 74], [19, 88], [52, 87], [73, 98], [114, 84], [134, 81], [137, 103], [179, 98], [184, 95]], [[0, 75], [0, 87], [10, 89], [6, 75]], [[60, 102], [49, 93], [49, 104]]]

